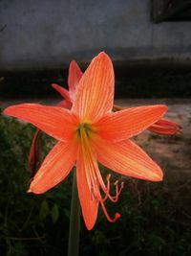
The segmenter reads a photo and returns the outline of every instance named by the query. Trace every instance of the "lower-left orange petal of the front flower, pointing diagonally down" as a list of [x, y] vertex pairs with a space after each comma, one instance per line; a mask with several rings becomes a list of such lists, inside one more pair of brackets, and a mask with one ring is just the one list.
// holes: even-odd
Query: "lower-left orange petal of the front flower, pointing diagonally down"
[[71, 141], [58, 142], [33, 177], [29, 192], [42, 194], [60, 183], [74, 167], [76, 151], [77, 147]]

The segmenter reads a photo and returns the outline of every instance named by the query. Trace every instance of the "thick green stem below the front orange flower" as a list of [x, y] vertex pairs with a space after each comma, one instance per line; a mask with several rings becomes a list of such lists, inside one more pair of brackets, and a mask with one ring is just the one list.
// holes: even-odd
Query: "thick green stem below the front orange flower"
[[78, 256], [79, 229], [80, 229], [80, 204], [79, 204], [79, 198], [78, 198], [77, 186], [76, 186], [76, 171], [74, 170], [68, 256]]

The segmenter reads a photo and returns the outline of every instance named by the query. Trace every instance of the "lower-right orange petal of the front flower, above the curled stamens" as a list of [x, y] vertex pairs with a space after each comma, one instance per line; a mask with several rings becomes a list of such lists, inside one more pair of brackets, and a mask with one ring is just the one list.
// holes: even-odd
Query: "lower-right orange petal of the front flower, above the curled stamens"
[[118, 174], [151, 181], [162, 179], [159, 166], [130, 140], [108, 145], [102, 143], [96, 151], [98, 161]]

